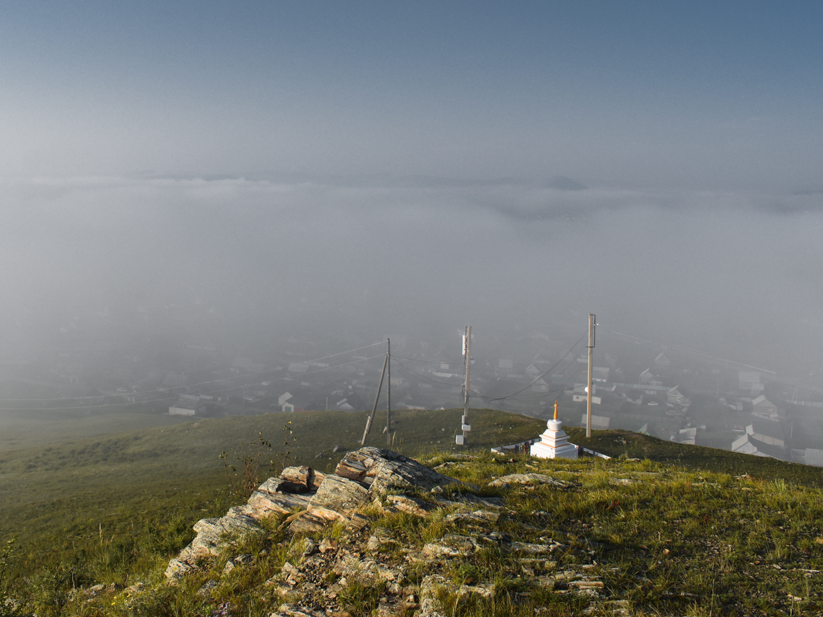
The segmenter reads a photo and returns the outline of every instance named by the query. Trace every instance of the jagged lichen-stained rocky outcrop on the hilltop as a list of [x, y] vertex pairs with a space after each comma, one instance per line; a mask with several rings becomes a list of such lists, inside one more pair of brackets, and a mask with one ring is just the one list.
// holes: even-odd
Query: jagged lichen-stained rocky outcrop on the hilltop
[[[574, 488], [540, 474], [496, 480], [499, 491], [514, 489], [513, 485], [520, 491]], [[287, 526], [287, 540], [280, 544], [287, 549], [286, 561], [277, 564], [257, 591], [264, 601], [276, 602], [272, 606], [278, 608], [270, 617], [345, 615], [357, 590], [370, 590], [372, 615], [438, 617], [451, 614], [448, 602], [504, 598], [510, 591], [495, 587], [500, 577], [518, 579], [521, 589], [602, 600], [604, 584], [595, 570], [599, 566], [579, 563], [592, 561], [594, 551], [588, 545], [575, 544], [574, 539], [560, 542], [551, 534], [535, 537], [541, 531], [526, 525], [522, 527], [531, 530], [531, 541], [515, 540], [510, 533], [520, 523], [505, 499], [482, 497], [472, 490], [478, 492], [479, 487], [380, 448], [346, 453], [333, 474], [289, 467], [260, 485], [246, 505], [231, 508], [225, 517], [198, 522], [198, 536], [171, 560], [166, 576], [184, 576], [203, 559], [230, 548], [239, 536], [263, 533], [258, 522], [276, 515]], [[418, 520], [426, 517], [430, 525]], [[414, 522], [407, 526], [409, 520]], [[424, 528], [438, 531], [426, 540], [416, 537], [414, 530]], [[574, 569], [558, 572], [558, 563], [570, 554]], [[499, 564], [492, 580], [455, 576], [463, 564], [470, 566], [467, 572], [488, 573], [490, 555]], [[236, 569], [249, 567], [255, 559], [237, 555], [216, 578], [235, 576]], [[216, 584], [210, 580], [198, 593], [207, 595]]]

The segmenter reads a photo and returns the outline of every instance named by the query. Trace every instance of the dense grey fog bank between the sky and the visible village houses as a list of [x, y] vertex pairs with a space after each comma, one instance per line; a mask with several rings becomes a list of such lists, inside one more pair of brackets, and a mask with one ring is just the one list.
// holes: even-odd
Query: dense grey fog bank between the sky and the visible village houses
[[[254, 350], [341, 332], [437, 341], [469, 323], [488, 345], [523, 331], [576, 340], [591, 311], [603, 336], [777, 370], [823, 365], [820, 193], [517, 180], [2, 184], [7, 353], [54, 346], [72, 323], [125, 346], [158, 336]], [[160, 313], [164, 332], [142, 329]], [[88, 325], [100, 315], [108, 325]]]

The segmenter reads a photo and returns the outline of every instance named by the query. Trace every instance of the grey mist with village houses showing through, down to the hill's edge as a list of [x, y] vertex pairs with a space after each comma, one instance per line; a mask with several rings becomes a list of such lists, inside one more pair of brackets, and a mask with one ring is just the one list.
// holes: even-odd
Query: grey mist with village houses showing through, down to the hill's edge
[[[401, 180], [9, 183], [27, 203], [8, 208], [3, 251], [26, 267], [3, 374], [54, 400], [6, 401], [6, 421], [168, 414], [177, 397], [212, 418], [282, 411], [286, 394], [363, 411], [386, 338], [395, 406], [461, 406], [468, 322], [478, 406], [547, 417], [558, 400], [579, 425], [597, 308], [597, 428], [723, 449], [748, 434], [737, 449], [817, 461], [821, 292], [796, 255], [751, 242], [816, 233], [809, 196], [718, 194], [737, 201], [718, 215], [689, 193]], [[731, 225], [744, 233], [723, 238]]]

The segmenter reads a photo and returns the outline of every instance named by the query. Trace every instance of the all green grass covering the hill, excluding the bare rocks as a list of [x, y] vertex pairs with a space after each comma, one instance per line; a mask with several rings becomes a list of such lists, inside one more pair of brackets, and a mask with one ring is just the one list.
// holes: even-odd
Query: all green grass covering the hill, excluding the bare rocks
[[[449, 460], [444, 451], [461, 413], [399, 412], [394, 449], [425, 451], [431, 466]], [[226, 489], [221, 450], [242, 452], [258, 433], [277, 445], [287, 420], [298, 438], [291, 448], [295, 462], [331, 471], [342, 457], [332, 455], [332, 447], [357, 448], [365, 414], [199, 420], [0, 453], [0, 540], [4, 545], [20, 536], [7, 573], [10, 595], [25, 598], [38, 615], [211, 615], [226, 602], [233, 615], [269, 615], [274, 600], [263, 582], [299, 548], [278, 531], [277, 521], [262, 543], [243, 548], [264, 550], [253, 568], [223, 576], [231, 556], [226, 554], [179, 587], [168, 587], [162, 573], [170, 556], [193, 537], [194, 521], [221, 516], [239, 502]], [[379, 426], [375, 422], [370, 445], [385, 445]], [[472, 411], [472, 447], [479, 458], [445, 470], [481, 485], [482, 494], [507, 497], [499, 531], [518, 540], [551, 536], [564, 542], [569, 549], [557, 556], [558, 569], [596, 561], [593, 571], [607, 583], [610, 598], [629, 601], [634, 615], [823, 612], [823, 574], [808, 572], [823, 569], [823, 544], [817, 540], [823, 537], [823, 470], [625, 431], [595, 431], [587, 440], [582, 429], [569, 429], [575, 443], [639, 462], [537, 461], [488, 453], [493, 445], [532, 438], [544, 426], [542, 420], [499, 411]], [[314, 458], [318, 452], [325, 457]], [[494, 477], [530, 471], [573, 481], [575, 488], [506, 493], [486, 486]], [[615, 478], [631, 481], [616, 485]], [[460, 532], [445, 522], [445, 513], [425, 520], [381, 516], [373, 525], [420, 546]], [[455, 562], [449, 576], [496, 582], [498, 595], [491, 604], [444, 598], [450, 614], [534, 615], [542, 607], [546, 615], [576, 615], [585, 604], [530, 586], [505, 554], [486, 553]], [[394, 557], [402, 559], [402, 553]], [[220, 581], [216, 603], [196, 594], [207, 578]], [[149, 591], [130, 598], [122, 588], [137, 581]], [[72, 587], [100, 582], [116, 583], [121, 591], [91, 603], [72, 595]], [[366, 614], [374, 605], [369, 589], [346, 593], [355, 612]]]

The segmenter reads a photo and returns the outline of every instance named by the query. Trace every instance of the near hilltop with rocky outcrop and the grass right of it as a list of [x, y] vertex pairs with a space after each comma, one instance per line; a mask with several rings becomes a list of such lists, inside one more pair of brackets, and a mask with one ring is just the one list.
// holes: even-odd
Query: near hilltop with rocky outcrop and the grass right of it
[[[759, 462], [752, 458], [752, 468]], [[425, 465], [427, 480], [394, 481], [409, 477], [407, 464]], [[335, 471], [313, 476], [307, 466], [292, 467], [267, 480], [248, 505], [260, 510], [263, 501], [297, 498], [294, 508], [270, 508], [253, 529], [212, 535], [193, 568], [171, 573], [174, 584], [164, 575], [169, 564], [155, 562], [128, 585], [81, 585], [67, 594], [63, 613], [43, 614], [823, 610], [823, 493], [816, 487], [625, 455], [570, 461], [430, 452], [413, 462], [363, 448]], [[370, 475], [384, 480], [370, 485]], [[336, 488], [316, 499], [330, 479]]]

